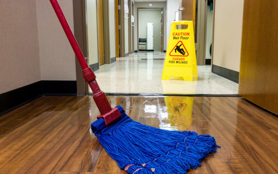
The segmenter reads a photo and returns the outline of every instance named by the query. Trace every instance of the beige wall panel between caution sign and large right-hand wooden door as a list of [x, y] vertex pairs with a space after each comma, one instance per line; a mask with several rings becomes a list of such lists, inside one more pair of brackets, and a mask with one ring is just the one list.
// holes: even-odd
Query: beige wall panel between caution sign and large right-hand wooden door
[[215, 1], [213, 64], [239, 72], [243, 1]]

